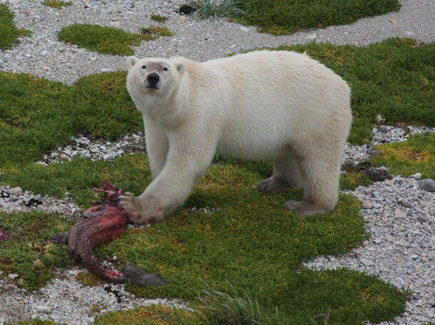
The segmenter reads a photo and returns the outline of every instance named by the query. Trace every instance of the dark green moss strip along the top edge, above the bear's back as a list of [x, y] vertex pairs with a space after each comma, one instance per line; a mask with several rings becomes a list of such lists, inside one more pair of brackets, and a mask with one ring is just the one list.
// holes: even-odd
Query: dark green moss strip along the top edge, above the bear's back
[[298, 29], [350, 24], [364, 16], [398, 11], [397, 0], [238, 0], [246, 14], [235, 18], [270, 34], [292, 34]]

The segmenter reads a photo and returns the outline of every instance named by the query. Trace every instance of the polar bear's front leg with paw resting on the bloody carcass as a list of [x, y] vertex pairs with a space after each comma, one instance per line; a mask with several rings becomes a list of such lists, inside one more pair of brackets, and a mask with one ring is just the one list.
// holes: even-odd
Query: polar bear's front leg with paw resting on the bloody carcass
[[[207, 152], [201, 150], [205, 148]], [[200, 146], [199, 149], [195, 146], [173, 149], [170, 146], [163, 170], [143, 194], [126, 193], [121, 196], [119, 204], [135, 224], [163, 221], [165, 215], [188, 198], [195, 183], [210, 166], [214, 152], [213, 146]]]

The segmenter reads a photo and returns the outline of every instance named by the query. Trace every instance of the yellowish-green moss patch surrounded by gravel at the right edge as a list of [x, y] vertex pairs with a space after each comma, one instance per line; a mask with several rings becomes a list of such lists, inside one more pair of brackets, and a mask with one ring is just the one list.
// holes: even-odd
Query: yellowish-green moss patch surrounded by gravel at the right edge
[[375, 146], [379, 155], [372, 164], [391, 167], [391, 174], [409, 176], [421, 173], [424, 179], [435, 179], [435, 133], [409, 136], [408, 141]]

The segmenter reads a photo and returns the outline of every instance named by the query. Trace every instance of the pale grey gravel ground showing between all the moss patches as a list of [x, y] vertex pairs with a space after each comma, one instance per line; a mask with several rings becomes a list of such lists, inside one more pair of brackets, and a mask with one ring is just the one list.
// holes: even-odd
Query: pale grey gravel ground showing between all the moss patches
[[[26, 72], [73, 84], [86, 74], [125, 69], [125, 58], [108, 56], [63, 44], [56, 33], [73, 23], [95, 23], [137, 32], [141, 26], [157, 24], [150, 14], [168, 16], [165, 23], [175, 35], [135, 47], [136, 56], [183, 55], [205, 60], [260, 46], [300, 44], [307, 41], [364, 45], [391, 36], [434, 41], [434, 1], [402, 0], [401, 10], [360, 19], [348, 26], [301, 31], [290, 36], [258, 34], [254, 27], [225, 19], [192, 20], [175, 13], [183, 1], [90, 1], [76, 0], [60, 11], [39, 1], [0, 0], [14, 11], [16, 25], [31, 29], [13, 49], [0, 51], [0, 69]], [[435, 131], [428, 128], [398, 129], [379, 126], [372, 144], [406, 141], [409, 134]], [[143, 151], [143, 134], [126, 135], [116, 142], [94, 141], [80, 135], [71, 144], [47, 152], [39, 164], [67, 161], [75, 155], [88, 159], [113, 160], [121, 154]], [[372, 146], [347, 146], [343, 162], [358, 164], [373, 152]], [[403, 316], [391, 324], [426, 324], [435, 321], [435, 192], [426, 191], [418, 174], [377, 181], [368, 187], [347, 191], [362, 201], [361, 215], [371, 234], [367, 241], [343, 256], [320, 256], [306, 265], [312, 269], [348, 267], [375, 274], [398, 289], [411, 291]], [[421, 187], [424, 187], [422, 189]], [[80, 209], [68, 199], [32, 194], [19, 188], [0, 187], [0, 211], [40, 209], [73, 218]], [[213, 211], [213, 209], [210, 209]], [[2, 234], [0, 234], [2, 236]], [[28, 293], [11, 280], [16, 274], [0, 274], [0, 325], [38, 317], [59, 324], [91, 324], [97, 314], [134, 306], [161, 303], [184, 307], [178, 301], [138, 299], [122, 285], [81, 286], [74, 279], [78, 269], [59, 271], [55, 280], [38, 292]], [[95, 306], [98, 306], [96, 308]]]

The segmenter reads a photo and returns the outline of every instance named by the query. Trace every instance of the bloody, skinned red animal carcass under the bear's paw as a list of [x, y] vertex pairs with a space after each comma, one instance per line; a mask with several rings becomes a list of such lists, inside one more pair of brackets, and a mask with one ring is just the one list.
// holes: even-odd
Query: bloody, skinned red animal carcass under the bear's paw
[[83, 211], [83, 219], [68, 231], [68, 251], [73, 261], [80, 261], [88, 271], [115, 283], [131, 281], [138, 286], [162, 286], [167, 282], [160, 274], [146, 274], [133, 263], [127, 263], [122, 271], [110, 269], [101, 264], [93, 254], [96, 246], [116, 239], [123, 234], [128, 224], [126, 212], [117, 205], [122, 191], [103, 181], [104, 201], [93, 204]]

